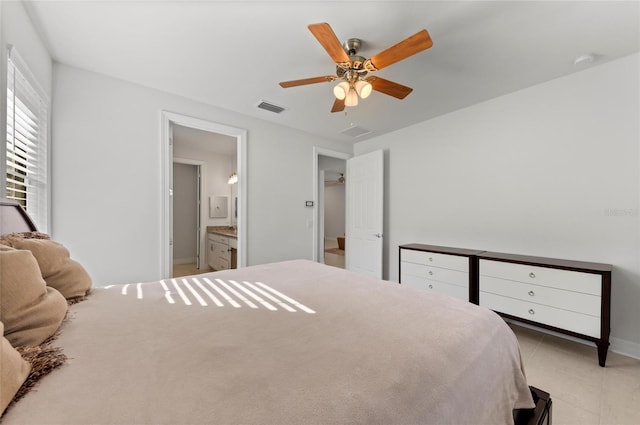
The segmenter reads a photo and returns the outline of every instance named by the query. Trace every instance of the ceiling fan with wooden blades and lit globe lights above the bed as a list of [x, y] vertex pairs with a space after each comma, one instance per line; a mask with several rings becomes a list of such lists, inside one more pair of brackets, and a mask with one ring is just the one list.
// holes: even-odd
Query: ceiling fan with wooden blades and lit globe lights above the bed
[[396, 62], [415, 55], [433, 45], [427, 30], [420, 30], [414, 35], [394, 44], [386, 50], [365, 59], [358, 56], [362, 42], [358, 38], [350, 38], [344, 45], [331, 29], [324, 23], [311, 24], [309, 30], [324, 47], [331, 59], [336, 63], [336, 75], [303, 78], [301, 80], [283, 81], [283, 88], [303, 86], [307, 84], [326, 83], [341, 80], [333, 88], [336, 100], [331, 112], [343, 111], [345, 106], [356, 106], [358, 96], [365, 99], [372, 90], [384, 93], [397, 99], [404, 99], [413, 89], [375, 76], [366, 76], [369, 72], [378, 71]]

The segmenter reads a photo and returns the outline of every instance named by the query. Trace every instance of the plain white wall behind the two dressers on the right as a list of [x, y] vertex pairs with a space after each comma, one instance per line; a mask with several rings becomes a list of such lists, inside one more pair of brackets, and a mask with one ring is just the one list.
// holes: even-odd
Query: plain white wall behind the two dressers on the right
[[356, 144], [385, 150], [386, 275], [411, 242], [610, 263], [614, 344], [640, 355], [639, 68], [631, 55]]

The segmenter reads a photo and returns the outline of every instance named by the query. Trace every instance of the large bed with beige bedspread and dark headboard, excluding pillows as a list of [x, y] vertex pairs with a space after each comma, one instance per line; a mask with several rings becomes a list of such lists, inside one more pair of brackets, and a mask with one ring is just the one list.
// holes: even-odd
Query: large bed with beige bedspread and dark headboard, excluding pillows
[[[0, 210], [0, 234], [35, 230]], [[498, 315], [308, 260], [92, 288], [52, 343], [67, 362], [2, 424], [536, 420]]]

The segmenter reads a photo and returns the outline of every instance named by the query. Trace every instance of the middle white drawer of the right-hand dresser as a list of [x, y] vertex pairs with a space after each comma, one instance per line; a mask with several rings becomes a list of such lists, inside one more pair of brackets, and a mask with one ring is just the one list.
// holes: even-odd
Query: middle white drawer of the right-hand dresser
[[602, 299], [597, 295], [565, 291], [563, 289], [490, 276], [480, 276], [480, 292], [489, 292], [595, 317], [600, 317], [602, 309]]

